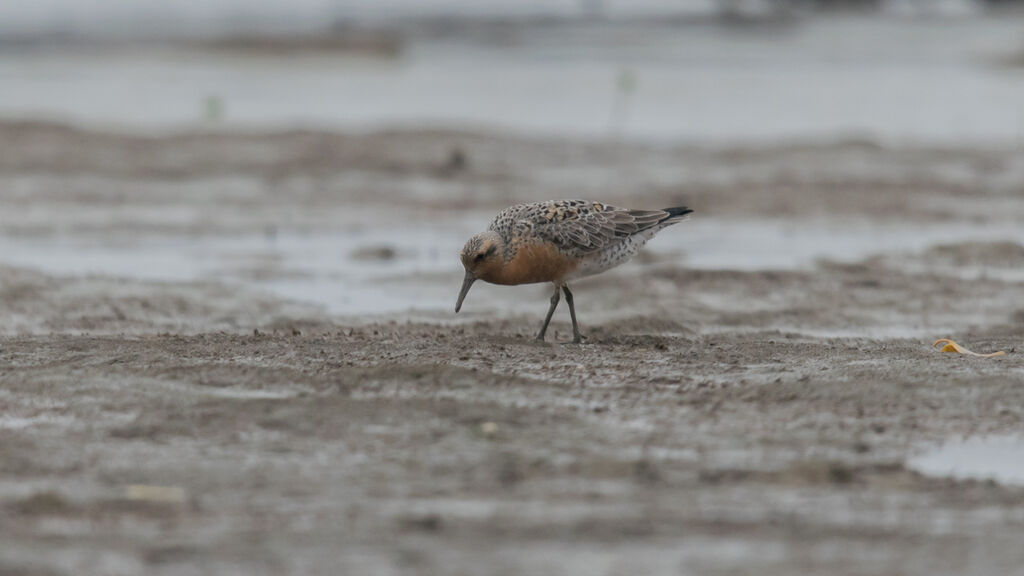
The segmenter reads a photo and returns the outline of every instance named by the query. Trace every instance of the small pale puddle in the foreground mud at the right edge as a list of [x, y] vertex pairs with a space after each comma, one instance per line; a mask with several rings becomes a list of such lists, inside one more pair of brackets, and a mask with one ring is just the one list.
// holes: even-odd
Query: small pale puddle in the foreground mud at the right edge
[[925, 476], [1024, 485], [1024, 436], [957, 439], [907, 460]]

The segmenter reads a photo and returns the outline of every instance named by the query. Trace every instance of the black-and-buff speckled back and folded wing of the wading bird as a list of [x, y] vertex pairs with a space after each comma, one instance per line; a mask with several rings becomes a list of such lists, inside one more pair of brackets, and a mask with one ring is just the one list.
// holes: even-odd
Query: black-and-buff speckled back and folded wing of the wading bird
[[523, 204], [506, 212], [495, 219], [492, 230], [503, 232], [495, 227], [512, 225], [513, 237], [551, 242], [575, 256], [613, 246], [670, 216], [664, 210], [630, 210], [585, 200]]

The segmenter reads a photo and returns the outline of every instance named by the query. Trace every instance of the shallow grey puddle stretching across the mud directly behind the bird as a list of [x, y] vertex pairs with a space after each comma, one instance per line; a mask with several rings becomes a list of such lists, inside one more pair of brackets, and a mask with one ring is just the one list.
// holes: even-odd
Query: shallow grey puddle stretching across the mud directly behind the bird
[[[454, 216], [430, 227], [281, 233], [273, 238], [155, 236], [133, 242], [85, 241], [75, 236], [5, 238], [0, 263], [55, 275], [228, 283], [319, 304], [340, 316], [449, 313], [462, 278], [459, 250], [488, 217], [474, 215], [466, 221]], [[691, 269], [798, 270], [819, 259], [856, 261], [885, 253], [893, 245], [920, 252], [938, 242], [968, 241], [1024, 244], [1024, 232], [1010, 224], [972, 222], [894, 227], [708, 218], [667, 231], [645, 250]], [[386, 257], [357, 256], [372, 255], [382, 247]], [[535, 303], [523, 301], [522, 310], [534, 310]], [[509, 305], [515, 307], [514, 302], [503, 301], [503, 308], [511, 310]]]

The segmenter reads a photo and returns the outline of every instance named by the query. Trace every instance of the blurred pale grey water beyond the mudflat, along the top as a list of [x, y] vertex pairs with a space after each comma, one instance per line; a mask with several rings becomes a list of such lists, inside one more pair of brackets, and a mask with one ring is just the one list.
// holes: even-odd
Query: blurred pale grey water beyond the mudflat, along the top
[[0, 7], [0, 113], [771, 140], [1019, 141], [1021, 3], [72, 0]]

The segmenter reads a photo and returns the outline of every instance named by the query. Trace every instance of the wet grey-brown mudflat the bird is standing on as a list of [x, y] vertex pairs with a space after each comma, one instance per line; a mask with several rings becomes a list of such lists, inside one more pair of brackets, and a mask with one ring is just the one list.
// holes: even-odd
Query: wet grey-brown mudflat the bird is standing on
[[[543, 287], [452, 314], [447, 243], [562, 197], [697, 213], [578, 284], [584, 345]], [[4, 124], [0, 205], [0, 574], [1024, 574], [1024, 485], [911, 465], [1024, 434], [1021, 151]], [[360, 225], [406, 310], [238, 249]], [[759, 225], [854, 248], [705, 265]], [[117, 265], [197, 238], [233, 264]]]

